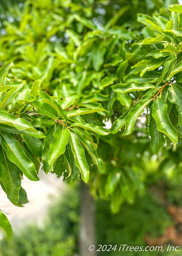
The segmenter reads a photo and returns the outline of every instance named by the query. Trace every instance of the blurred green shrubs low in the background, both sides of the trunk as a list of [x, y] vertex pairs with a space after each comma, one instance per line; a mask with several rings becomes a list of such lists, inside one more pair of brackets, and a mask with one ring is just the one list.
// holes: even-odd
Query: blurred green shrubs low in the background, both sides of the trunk
[[[124, 203], [116, 214], [111, 214], [105, 200], [96, 200], [97, 244], [130, 246], [182, 245], [181, 185], [176, 182], [159, 181], [150, 185], [143, 195], [137, 195], [133, 204]], [[1, 256], [76, 256], [79, 247], [79, 184], [68, 186], [61, 199], [51, 199], [50, 209], [41, 227], [23, 227], [10, 239], [0, 241]], [[178, 207], [177, 208], [174, 207]], [[65, 214], [67, 213], [67, 214]], [[171, 236], [172, 234], [172, 236]], [[99, 255], [120, 255], [121, 252], [98, 252]], [[163, 252], [163, 255], [179, 255], [178, 252]], [[124, 255], [138, 255], [124, 252]], [[160, 252], [140, 252], [140, 255], [161, 255]]]

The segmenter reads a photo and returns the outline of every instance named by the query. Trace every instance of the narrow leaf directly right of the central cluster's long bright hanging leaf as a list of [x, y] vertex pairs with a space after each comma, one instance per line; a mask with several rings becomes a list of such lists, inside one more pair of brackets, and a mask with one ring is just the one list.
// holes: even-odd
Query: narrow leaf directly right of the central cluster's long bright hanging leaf
[[85, 135], [78, 129], [73, 129], [73, 131], [78, 136], [78, 139], [83, 144], [84, 148], [87, 150], [88, 154], [91, 156], [93, 162], [98, 165], [98, 155], [96, 153], [95, 147], [92, 143], [86, 139]]

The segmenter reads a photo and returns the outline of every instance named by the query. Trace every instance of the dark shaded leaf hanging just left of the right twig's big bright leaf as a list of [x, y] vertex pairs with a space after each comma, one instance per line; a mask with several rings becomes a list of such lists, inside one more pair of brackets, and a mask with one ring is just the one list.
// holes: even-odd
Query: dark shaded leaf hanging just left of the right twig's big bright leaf
[[153, 112], [153, 105], [150, 109], [150, 116], [149, 116], [149, 135], [151, 137], [151, 147], [154, 151], [154, 153], [158, 153], [159, 149], [165, 144], [166, 140], [164, 138], [164, 134], [162, 132], [159, 132], [157, 129], [157, 123], [152, 116]]

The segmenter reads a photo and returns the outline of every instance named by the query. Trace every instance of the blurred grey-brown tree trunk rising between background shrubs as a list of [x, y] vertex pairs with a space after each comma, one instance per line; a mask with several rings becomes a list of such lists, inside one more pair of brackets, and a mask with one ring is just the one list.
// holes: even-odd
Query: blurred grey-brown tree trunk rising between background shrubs
[[89, 186], [81, 183], [80, 207], [80, 256], [96, 256], [96, 249], [89, 251], [90, 245], [95, 245], [95, 211], [94, 199], [90, 194]]

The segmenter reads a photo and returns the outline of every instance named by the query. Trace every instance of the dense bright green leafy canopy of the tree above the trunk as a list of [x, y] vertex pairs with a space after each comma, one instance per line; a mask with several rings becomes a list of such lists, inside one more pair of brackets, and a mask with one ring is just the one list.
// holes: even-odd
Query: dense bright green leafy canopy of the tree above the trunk
[[137, 3], [25, 1], [7, 12], [0, 184], [13, 204], [27, 202], [21, 178], [38, 180], [40, 167], [67, 182], [90, 174], [92, 193], [114, 212], [143, 190], [154, 153], [159, 175], [180, 173], [182, 7]]

